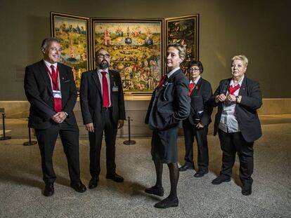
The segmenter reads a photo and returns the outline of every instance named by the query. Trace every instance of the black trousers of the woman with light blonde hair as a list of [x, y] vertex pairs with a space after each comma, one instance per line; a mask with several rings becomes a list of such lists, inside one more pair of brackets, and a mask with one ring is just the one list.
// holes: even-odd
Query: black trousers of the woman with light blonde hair
[[252, 186], [254, 172], [254, 142], [246, 142], [241, 132], [224, 132], [219, 129], [222, 150], [221, 175], [231, 177], [235, 154], [240, 159], [240, 181], [243, 186]]

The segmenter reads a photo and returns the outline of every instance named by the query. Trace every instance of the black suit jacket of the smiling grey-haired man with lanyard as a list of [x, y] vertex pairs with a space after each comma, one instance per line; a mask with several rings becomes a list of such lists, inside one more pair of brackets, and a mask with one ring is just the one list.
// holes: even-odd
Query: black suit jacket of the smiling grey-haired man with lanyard
[[[60, 91], [62, 93], [62, 111], [68, 116], [65, 119], [70, 125], [77, 122], [73, 109], [77, 101], [77, 90], [72, 76], [72, 69], [58, 63]], [[54, 111], [53, 90], [51, 80], [46, 71], [44, 60], [25, 68], [25, 95], [30, 102], [30, 117], [28, 126], [35, 129], [46, 129], [54, 123], [51, 116]]]

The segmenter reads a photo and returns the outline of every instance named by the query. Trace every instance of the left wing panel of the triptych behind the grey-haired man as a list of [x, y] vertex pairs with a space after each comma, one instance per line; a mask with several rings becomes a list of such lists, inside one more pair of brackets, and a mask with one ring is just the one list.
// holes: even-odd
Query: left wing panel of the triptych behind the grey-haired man
[[81, 75], [91, 69], [89, 18], [51, 12], [51, 36], [60, 40], [60, 62], [72, 67], [79, 91]]

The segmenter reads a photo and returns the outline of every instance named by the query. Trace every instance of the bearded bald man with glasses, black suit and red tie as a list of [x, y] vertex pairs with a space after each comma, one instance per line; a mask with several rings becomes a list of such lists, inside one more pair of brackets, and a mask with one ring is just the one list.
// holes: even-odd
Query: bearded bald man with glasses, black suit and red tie
[[82, 74], [80, 103], [84, 125], [89, 132], [90, 174], [89, 189], [98, 185], [100, 151], [105, 135], [106, 178], [123, 182], [124, 178], [116, 173], [115, 140], [117, 129], [122, 128], [125, 120], [124, 93], [119, 72], [110, 67], [110, 54], [101, 48], [96, 51], [96, 66], [92, 71]]

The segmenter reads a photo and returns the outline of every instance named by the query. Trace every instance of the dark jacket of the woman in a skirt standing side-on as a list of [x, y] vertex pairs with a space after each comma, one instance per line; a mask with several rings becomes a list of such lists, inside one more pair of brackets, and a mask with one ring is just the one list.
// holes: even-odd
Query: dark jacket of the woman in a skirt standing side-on
[[190, 113], [189, 80], [179, 69], [159, 90], [155, 89], [145, 116], [151, 130], [167, 130], [179, 125]]

